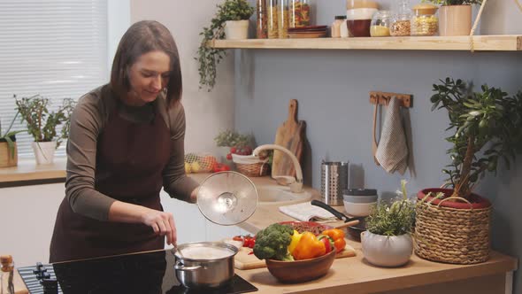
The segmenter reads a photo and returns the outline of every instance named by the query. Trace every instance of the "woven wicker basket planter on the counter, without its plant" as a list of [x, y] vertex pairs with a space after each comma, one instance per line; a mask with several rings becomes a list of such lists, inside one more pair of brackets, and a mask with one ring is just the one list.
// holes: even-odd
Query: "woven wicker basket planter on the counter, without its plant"
[[490, 251], [491, 205], [475, 209], [442, 206], [449, 198], [460, 197], [444, 198], [438, 205], [432, 204], [434, 199], [418, 200], [415, 253], [423, 259], [453, 264], [486, 261]]

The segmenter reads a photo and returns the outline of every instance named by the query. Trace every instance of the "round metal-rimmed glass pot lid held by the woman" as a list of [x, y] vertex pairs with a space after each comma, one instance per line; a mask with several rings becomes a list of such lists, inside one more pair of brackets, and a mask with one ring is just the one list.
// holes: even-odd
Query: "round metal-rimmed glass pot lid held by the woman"
[[257, 207], [256, 186], [236, 172], [209, 175], [197, 190], [197, 206], [207, 220], [231, 226], [246, 221]]

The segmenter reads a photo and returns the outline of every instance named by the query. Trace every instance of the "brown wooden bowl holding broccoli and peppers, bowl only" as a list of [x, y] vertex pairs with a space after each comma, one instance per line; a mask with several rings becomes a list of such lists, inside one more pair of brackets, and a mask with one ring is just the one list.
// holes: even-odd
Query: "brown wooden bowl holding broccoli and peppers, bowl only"
[[280, 282], [306, 282], [326, 275], [334, 259], [335, 251], [330, 251], [315, 259], [296, 261], [266, 259], [265, 262], [270, 274]]

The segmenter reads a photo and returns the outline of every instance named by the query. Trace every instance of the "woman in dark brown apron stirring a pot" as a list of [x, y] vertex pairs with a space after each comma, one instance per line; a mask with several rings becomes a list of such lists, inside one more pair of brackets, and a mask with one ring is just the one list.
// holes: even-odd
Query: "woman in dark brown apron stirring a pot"
[[168, 29], [157, 21], [129, 27], [111, 82], [81, 97], [73, 112], [50, 262], [162, 249], [165, 236], [176, 243], [159, 192], [195, 202], [197, 187], [184, 169], [181, 92]]

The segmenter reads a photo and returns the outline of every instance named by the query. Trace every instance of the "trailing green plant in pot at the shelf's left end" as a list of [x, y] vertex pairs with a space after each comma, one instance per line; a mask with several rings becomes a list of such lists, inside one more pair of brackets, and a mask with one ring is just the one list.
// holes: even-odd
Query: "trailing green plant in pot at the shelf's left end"
[[218, 12], [211, 19], [210, 27], [203, 27], [201, 43], [197, 50], [196, 60], [199, 63], [200, 89], [207, 87], [209, 92], [216, 84], [216, 66], [225, 58], [226, 50], [211, 47], [215, 39], [247, 39], [249, 18], [254, 8], [246, 0], [226, 0], [218, 5]]

